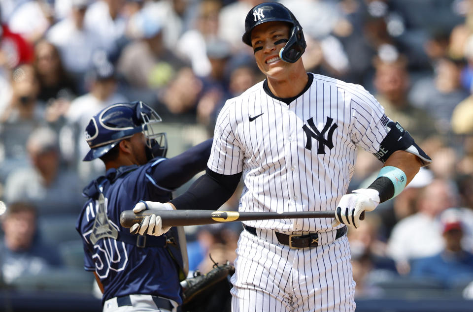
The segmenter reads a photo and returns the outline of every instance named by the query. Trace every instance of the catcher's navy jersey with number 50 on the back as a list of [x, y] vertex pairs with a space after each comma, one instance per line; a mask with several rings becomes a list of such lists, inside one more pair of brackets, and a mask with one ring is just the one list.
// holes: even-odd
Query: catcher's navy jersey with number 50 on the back
[[[171, 190], [159, 187], [152, 175], [152, 168], [165, 159], [142, 166], [109, 169], [106, 177], [93, 181], [84, 189], [84, 194], [90, 197], [96, 197], [101, 189], [106, 217], [119, 235], [117, 240], [105, 237], [95, 244], [91, 241], [94, 222], [99, 215], [99, 202], [89, 199], [77, 220], [76, 229], [84, 243], [84, 268], [95, 271], [103, 284], [102, 304], [110, 298], [128, 294], [151, 294], [182, 303], [177, 265], [169, 253], [178, 252], [178, 248], [140, 248], [121, 241], [122, 236], [130, 236], [129, 229], [120, 226], [122, 211], [132, 209], [140, 200], [170, 200]], [[105, 222], [103, 218], [101, 224]], [[133, 236], [135, 241], [136, 237]], [[152, 239], [157, 238], [147, 237], [147, 240]], [[179, 255], [176, 254], [175, 258]]]

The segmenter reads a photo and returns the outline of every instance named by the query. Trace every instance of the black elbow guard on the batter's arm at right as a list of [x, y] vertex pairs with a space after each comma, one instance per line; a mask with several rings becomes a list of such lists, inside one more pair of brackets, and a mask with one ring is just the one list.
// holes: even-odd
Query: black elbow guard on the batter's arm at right
[[427, 166], [432, 162], [432, 159], [422, 151], [414, 142], [414, 138], [409, 132], [405, 131], [399, 123], [390, 121], [386, 125], [386, 129], [388, 130], [388, 134], [379, 145], [379, 151], [373, 154], [383, 163], [396, 151], [405, 151], [414, 154], [419, 157], [422, 166]]

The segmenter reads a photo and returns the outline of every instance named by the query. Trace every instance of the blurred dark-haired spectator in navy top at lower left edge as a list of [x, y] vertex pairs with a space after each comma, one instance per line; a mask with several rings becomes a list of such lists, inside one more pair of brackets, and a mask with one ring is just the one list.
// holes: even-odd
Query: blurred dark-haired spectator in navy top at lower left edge
[[22, 276], [45, 274], [62, 265], [58, 250], [41, 242], [36, 220], [36, 208], [28, 202], [10, 203], [1, 215], [5, 236], [0, 242], [0, 268], [7, 284]]

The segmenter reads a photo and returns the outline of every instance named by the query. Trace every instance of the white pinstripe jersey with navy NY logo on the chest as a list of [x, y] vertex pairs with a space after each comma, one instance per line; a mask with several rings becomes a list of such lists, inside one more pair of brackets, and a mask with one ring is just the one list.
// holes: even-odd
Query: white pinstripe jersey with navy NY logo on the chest
[[[388, 119], [376, 99], [359, 85], [309, 75], [311, 86], [289, 105], [267, 94], [260, 82], [222, 108], [207, 166], [219, 174], [242, 172], [240, 212], [335, 210], [353, 175], [357, 147], [379, 150]], [[244, 223], [280, 232], [324, 232], [332, 230], [331, 222]]]

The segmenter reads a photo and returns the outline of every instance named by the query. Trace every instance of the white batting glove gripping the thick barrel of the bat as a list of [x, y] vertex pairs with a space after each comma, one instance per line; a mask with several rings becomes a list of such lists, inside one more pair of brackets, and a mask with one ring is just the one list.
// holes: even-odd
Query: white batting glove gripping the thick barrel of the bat
[[[133, 208], [133, 212], [136, 214], [146, 209], [173, 210], [172, 206], [169, 203], [163, 204], [157, 201], [140, 200]], [[141, 223], [133, 224], [132, 227], [130, 227], [130, 233], [143, 235], [146, 232], [146, 234], [148, 235], [161, 236], [164, 233], [168, 232], [170, 228], [170, 226], [162, 226], [160, 216], [151, 215], [144, 217], [143, 220], [141, 220]]]

